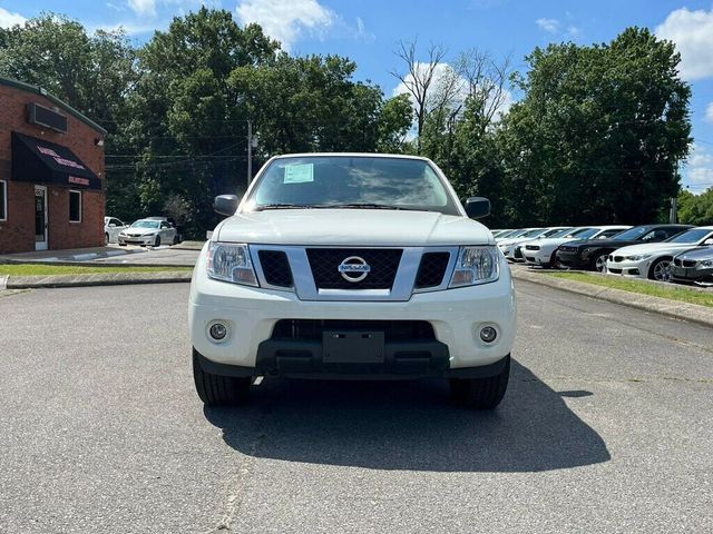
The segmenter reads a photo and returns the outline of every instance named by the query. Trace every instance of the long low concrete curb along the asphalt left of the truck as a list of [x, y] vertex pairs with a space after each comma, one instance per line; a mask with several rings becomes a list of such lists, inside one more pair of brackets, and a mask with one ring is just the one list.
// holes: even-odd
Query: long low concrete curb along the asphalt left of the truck
[[193, 271], [111, 273], [89, 275], [11, 276], [8, 289], [38, 289], [47, 287], [123, 286], [133, 284], [174, 284], [191, 281]]

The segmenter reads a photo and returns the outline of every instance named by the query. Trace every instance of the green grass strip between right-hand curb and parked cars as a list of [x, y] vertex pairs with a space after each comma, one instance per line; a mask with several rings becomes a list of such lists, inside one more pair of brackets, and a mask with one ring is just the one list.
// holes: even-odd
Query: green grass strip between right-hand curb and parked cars
[[682, 303], [713, 307], [713, 289], [697, 291], [695, 289], [690, 289], [685, 286], [677, 286], [674, 284], [664, 286], [661, 284], [649, 284], [644, 280], [632, 280], [628, 278], [587, 273], [547, 273], [547, 275], [556, 278], [566, 278], [568, 280], [594, 284], [596, 286], [611, 287], [613, 289], [623, 289], [624, 291], [638, 293], [641, 295], [649, 295], [652, 297], [661, 297], [670, 300], [680, 300]]

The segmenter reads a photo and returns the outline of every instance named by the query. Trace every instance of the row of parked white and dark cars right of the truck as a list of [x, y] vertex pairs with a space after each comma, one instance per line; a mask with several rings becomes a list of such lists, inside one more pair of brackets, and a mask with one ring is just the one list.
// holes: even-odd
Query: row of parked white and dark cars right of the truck
[[713, 226], [558, 226], [492, 235], [509, 261], [713, 286]]

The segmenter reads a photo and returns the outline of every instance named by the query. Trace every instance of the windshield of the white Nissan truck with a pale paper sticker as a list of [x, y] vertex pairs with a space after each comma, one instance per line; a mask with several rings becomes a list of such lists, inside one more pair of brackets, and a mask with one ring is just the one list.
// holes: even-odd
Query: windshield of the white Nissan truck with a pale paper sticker
[[262, 174], [246, 208], [385, 208], [460, 215], [427, 161], [370, 156], [275, 159]]

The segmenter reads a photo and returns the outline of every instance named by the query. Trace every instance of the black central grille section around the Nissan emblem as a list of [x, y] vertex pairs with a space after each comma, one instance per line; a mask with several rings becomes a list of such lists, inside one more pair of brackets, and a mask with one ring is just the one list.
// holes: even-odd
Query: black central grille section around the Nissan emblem
[[[399, 248], [307, 248], [307, 259], [318, 289], [391, 289], [401, 261]], [[346, 258], [358, 256], [369, 265], [360, 281], [344, 279], [339, 267]]]

